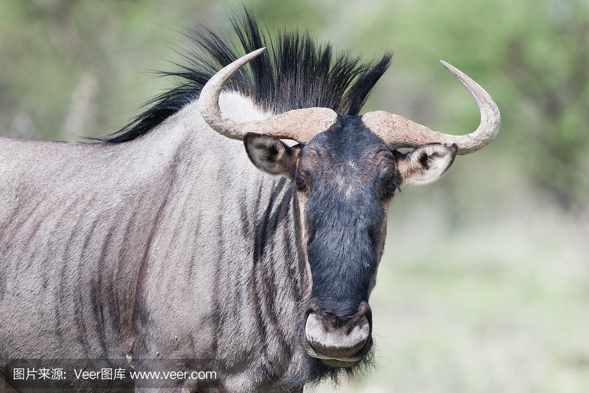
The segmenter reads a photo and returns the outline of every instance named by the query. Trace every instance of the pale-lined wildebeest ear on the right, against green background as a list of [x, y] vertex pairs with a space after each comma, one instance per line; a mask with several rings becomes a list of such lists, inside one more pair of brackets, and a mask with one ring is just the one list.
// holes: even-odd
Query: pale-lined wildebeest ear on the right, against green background
[[436, 181], [450, 168], [457, 151], [456, 144], [428, 144], [406, 154], [395, 151], [397, 168], [401, 172], [403, 184], [428, 184]]

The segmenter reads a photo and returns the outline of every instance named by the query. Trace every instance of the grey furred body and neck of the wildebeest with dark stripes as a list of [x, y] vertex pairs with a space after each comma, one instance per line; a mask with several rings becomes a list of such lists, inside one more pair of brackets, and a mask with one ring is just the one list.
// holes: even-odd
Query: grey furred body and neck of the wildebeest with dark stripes
[[0, 138], [0, 362], [213, 358], [226, 391], [278, 389], [309, 286], [287, 182], [198, 102], [124, 144]]

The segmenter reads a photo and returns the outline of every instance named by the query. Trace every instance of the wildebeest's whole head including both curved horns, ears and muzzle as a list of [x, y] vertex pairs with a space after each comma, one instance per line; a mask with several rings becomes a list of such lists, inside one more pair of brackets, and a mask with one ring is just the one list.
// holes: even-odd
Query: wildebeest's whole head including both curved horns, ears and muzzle
[[[499, 129], [491, 97], [449, 64], [481, 109], [477, 131], [453, 136], [401, 116], [377, 111], [337, 115], [327, 108], [297, 109], [263, 121], [237, 122], [219, 109], [219, 94], [241, 66], [264, 48], [221, 69], [200, 95], [211, 128], [243, 139], [257, 168], [292, 179], [312, 289], [305, 311], [307, 353], [333, 367], [362, 360], [372, 346], [368, 304], [382, 256], [386, 218], [406, 182], [435, 181], [454, 161], [487, 145]], [[289, 146], [282, 139], [294, 139]], [[401, 153], [401, 147], [413, 148]]]

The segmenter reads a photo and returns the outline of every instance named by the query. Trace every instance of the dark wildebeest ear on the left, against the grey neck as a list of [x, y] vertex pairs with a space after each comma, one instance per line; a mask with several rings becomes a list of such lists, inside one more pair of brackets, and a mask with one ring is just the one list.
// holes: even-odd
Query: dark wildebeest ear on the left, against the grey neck
[[292, 172], [299, 156], [300, 145], [290, 147], [275, 136], [246, 134], [243, 138], [247, 156], [253, 164], [271, 175], [292, 178]]

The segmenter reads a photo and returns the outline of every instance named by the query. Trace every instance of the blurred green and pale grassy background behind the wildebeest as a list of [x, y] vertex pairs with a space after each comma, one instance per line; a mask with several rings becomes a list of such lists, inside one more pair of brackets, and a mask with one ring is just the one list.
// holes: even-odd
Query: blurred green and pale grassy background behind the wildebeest
[[[244, 4], [271, 29], [308, 28], [340, 51], [393, 49], [365, 111], [473, 131], [477, 106], [440, 59], [501, 109], [488, 148], [396, 197], [371, 299], [378, 367], [338, 390], [588, 392], [589, 2]], [[149, 71], [174, 68], [181, 32], [197, 22], [229, 28], [230, 6], [239, 8], [0, 0], [0, 136], [117, 131], [173, 84]]]

